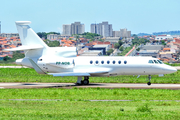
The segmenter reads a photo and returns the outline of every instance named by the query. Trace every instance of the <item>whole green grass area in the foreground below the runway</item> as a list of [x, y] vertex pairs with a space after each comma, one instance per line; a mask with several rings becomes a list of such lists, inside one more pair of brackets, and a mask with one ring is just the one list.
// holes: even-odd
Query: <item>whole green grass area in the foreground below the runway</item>
[[[178, 120], [180, 118], [180, 102], [175, 101], [180, 100], [179, 90], [43, 88], [1, 89], [0, 92], [1, 119]], [[89, 101], [96, 99], [133, 101]]]

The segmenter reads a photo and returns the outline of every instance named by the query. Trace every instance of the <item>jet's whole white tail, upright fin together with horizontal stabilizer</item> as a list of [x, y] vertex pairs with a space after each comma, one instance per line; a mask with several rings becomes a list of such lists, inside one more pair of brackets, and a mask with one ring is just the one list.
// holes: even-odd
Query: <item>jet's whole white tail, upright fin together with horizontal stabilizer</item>
[[30, 21], [16, 21], [22, 46], [4, 51], [24, 51], [25, 57], [38, 58], [48, 48], [46, 43], [31, 29]]

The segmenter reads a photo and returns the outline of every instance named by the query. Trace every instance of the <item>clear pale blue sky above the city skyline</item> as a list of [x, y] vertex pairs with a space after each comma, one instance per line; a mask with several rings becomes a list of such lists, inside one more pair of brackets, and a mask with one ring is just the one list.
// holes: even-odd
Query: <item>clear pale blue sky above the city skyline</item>
[[180, 30], [180, 0], [1, 0], [1, 33], [17, 33], [15, 21], [35, 32], [60, 32], [63, 24], [108, 21], [132, 34]]

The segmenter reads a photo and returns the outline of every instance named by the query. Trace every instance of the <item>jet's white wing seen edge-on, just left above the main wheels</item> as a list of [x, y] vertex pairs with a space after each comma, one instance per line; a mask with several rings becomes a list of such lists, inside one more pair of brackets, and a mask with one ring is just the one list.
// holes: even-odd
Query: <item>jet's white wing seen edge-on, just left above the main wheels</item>
[[48, 75], [53, 75], [53, 76], [90, 76], [89, 73], [76, 73], [76, 72], [48, 73]]

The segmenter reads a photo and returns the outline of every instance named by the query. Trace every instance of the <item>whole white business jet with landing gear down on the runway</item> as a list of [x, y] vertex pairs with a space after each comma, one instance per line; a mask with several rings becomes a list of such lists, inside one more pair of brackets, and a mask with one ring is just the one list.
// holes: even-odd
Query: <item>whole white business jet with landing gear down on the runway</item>
[[[77, 76], [78, 85], [88, 85], [89, 77], [117, 75], [170, 74], [177, 69], [152, 57], [77, 56], [76, 47], [48, 47], [29, 26], [30, 21], [16, 21], [22, 46], [6, 51], [24, 51], [19, 65], [34, 68], [39, 74]], [[84, 77], [84, 80], [82, 79]]]

